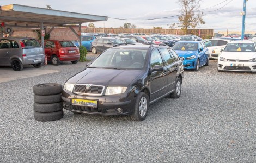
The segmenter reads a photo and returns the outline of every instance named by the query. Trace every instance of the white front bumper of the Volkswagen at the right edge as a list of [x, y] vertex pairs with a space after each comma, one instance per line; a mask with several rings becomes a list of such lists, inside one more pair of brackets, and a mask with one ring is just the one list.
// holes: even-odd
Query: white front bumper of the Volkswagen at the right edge
[[[231, 66], [231, 64], [243, 64], [243, 66]], [[235, 62], [218, 60], [218, 70], [256, 72], [256, 62]]]

